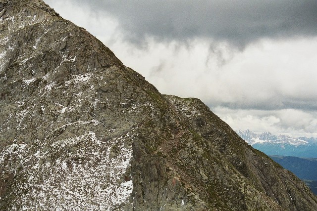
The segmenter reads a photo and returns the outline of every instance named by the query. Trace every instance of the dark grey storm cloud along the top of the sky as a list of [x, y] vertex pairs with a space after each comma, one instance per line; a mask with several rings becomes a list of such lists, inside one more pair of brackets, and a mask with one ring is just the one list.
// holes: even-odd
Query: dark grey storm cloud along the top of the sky
[[317, 35], [317, 0], [73, 0], [119, 21], [130, 40], [193, 37], [244, 46], [259, 38]]

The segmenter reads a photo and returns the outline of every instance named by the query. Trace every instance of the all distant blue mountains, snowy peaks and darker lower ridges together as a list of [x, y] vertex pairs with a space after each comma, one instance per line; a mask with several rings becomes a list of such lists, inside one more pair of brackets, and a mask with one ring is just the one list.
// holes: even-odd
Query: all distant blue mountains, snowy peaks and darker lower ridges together
[[237, 133], [255, 149], [292, 171], [317, 195], [317, 138], [293, 138], [270, 132], [258, 134], [249, 129]]

